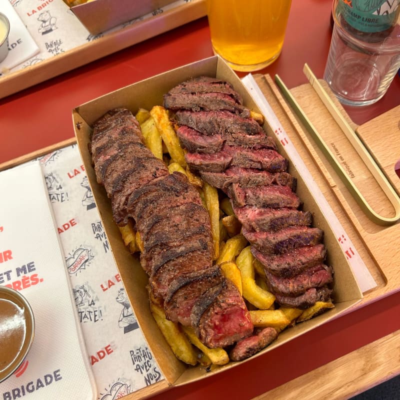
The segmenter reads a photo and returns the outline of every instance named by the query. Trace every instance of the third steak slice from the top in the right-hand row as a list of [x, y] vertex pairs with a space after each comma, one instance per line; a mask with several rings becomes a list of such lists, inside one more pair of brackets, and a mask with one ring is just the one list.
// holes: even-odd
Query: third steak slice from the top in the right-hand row
[[265, 134], [257, 121], [242, 118], [228, 111], [176, 111], [175, 120], [179, 125], [187, 125], [203, 134], [246, 133]]

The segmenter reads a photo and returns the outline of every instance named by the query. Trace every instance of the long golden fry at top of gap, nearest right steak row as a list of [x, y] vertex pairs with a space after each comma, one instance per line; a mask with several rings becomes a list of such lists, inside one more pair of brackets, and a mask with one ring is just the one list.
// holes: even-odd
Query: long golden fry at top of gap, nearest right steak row
[[166, 109], [160, 105], [154, 105], [150, 110], [150, 115], [154, 118], [155, 126], [165, 143], [172, 161], [178, 162], [186, 168], [183, 149], [180, 147], [179, 139], [169, 120]]

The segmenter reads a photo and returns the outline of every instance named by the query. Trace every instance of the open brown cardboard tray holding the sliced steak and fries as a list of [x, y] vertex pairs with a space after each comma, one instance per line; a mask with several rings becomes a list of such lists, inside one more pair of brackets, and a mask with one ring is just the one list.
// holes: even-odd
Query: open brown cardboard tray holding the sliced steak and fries
[[[167, 92], [171, 87], [183, 80], [198, 75], [216, 76], [230, 81], [234, 88], [243, 96], [244, 104], [250, 109], [257, 110], [254, 101], [237, 75], [216, 56], [123, 87], [79, 105], [72, 110], [72, 119], [79, 151], [85, 165], [89, 183], [102, 218], [104, 229], [108, 236], [116, 265], [143, 334], [148, 341], [149, 347], [165, 379], [170, 385], [185, 384], [231, 368], [236, 363], [230, 362], [227, 365], [213, 368], [211, 371], [207, 372], [204, 368], [199, 366], [187, 366], [178, 361], [173, 355], [149, 311], [148, 295], [145, 288], [148, 280], [147, 275], [141, 268], [138, 259], [132, 256], [124, 246], [119, 229], [112, 219], [110, 199], [107, 197], [103, 186], [100, 186], [96, 182], [91, 157], [88, 151], [88, 143], [91, 133], [90, 125], [107, 110], [114, 107], [127, 107], [135, 113], [139, 107], [149, 109], [153, 105], [162, 104], [162, 94]], [[268, 134], [273, 135], [271, 129], [267, 125], [264, 125], [264, 128]], [[278, 151], [283, 156], [287, 156], [284, 148], [281, 147], [279, 143]], [[290, 162], [289, 164], [289, 172], [297, 178], [298, 184], [296, 192], [304, 203], [303, 209], [310, 210], [313, 213], [314, 225], [323, 229], [325, 233], [324, 241], [328, 249], [327, 263], [334, 268], [333, 296], [335, 308], [307, 322], [286, 329], [279, 334], [276, 341], [255, 356], [265, 354], [274, 347], [282, 345], [294, 337], [348, 312], [351, 307], [362, 299], [362, 294], [351, 268], [328, 221], [324, 218], [318, 204], [309, 192], [306, 183], [302, 181], [294, 166], [291, 165]]]

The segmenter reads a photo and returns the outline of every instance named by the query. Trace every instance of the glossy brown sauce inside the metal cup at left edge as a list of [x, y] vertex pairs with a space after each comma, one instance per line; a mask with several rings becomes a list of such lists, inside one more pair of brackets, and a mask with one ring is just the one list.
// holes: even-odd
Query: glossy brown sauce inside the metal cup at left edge
[[17, 357], [25, 340], [23, 307], [7, 299], [0, 299], [0, 372]]

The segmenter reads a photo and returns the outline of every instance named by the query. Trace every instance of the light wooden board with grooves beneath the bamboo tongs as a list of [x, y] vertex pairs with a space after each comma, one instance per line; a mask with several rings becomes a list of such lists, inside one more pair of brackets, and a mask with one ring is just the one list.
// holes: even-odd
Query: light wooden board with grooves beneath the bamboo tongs
[[[364, 293], [363, 300], [356, 307], [400, 290], [400, 269], [396, 256], [400, 253], [400, 222], [379, 226], [369, 220], [295, 116], [273, 79], [260, 74], [254, 75], [254, 78], [376, 281], [377, 286]], [[328, 91], [326, 84], [321, 83]], [[392, 205], [311, 84], [305, 83], [290, 91], [337, 159], [344, 163], [347, 173], [370, 206], [383, 216], [393, 216]], [[394, 164], [400, 158], [400, 141], [396, 140], [400, 130], [400, 107], [357, 126], [333, 94], [331, 97], [399, 193], [400, 179]]]

